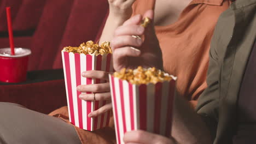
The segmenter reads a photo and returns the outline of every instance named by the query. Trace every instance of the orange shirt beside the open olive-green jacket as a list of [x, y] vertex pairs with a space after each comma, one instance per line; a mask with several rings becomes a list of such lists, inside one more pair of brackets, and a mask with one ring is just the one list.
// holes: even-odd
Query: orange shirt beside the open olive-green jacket
[[[154, 9], [157, 0], [137, 0], [133, 15]], [[219, 15], [231, 1], [194, 0], [182, 11], [178, 21], [155, 26], [167, 73], [177, 76], [177, 91], [193, 106], [207, 87], [206, 74], [210, 42]]]

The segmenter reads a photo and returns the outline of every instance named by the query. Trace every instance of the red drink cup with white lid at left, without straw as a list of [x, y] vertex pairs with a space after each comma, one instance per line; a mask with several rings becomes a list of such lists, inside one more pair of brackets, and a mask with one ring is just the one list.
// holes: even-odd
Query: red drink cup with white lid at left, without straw
[[10, 53], [10, 48], [0, 49], [0, 81], [14, 83], [26, 81], [28, 56], [31, 51], [15, 48], [15, 55]]

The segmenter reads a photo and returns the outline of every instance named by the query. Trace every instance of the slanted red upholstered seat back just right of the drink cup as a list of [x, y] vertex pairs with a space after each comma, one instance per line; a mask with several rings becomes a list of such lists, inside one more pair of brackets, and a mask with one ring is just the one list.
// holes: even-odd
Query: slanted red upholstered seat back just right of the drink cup
[[[29, 70], [52, 69], [56, 52], [65, 32], [73, 0], [51, 0], [45, 3], [39, 25], [33, 35]], [[45, 67], [39, 67], [40, 63]]]

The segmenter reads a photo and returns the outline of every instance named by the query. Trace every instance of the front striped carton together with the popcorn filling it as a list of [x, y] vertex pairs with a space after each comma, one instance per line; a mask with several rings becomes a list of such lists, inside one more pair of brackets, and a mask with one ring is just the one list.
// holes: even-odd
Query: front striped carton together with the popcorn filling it
[[170, 136], [176, 80], [156, 68], [109, 74], [117, 144], [124, 144], [124, 129]]

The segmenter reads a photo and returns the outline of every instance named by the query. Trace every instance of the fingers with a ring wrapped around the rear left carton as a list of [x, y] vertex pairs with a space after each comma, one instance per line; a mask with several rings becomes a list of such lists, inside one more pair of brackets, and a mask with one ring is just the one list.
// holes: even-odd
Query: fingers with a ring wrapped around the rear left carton
[[[90, 71], [84, 71], [82, 73], [83, 77], [91, 78], [91, 79], [101, 79], [106, 80], [106, 83], [98, 83], [98, 84], [92, 84], [92, 85], [80, 85], [77, 87], [77, 91], [83, 92], [84, 94], [80, 94], [79, 98], [82, 100], [110, 100], [111, 94], [110, 94], [110, 85], [108, 82], [108, 74], [106, 71], [99, 71], [99, 70], [90, 70]], [[86, 92], [92, 92], [91, 94], [85, 94]], [[108, 110], [112, 109], [112, 104], [108, 103], [100, 109], [93, 111], [89, 113], [88, 117], [96, 117], [98, 115], [101, 115], [102, 113], [107, 112]]]

